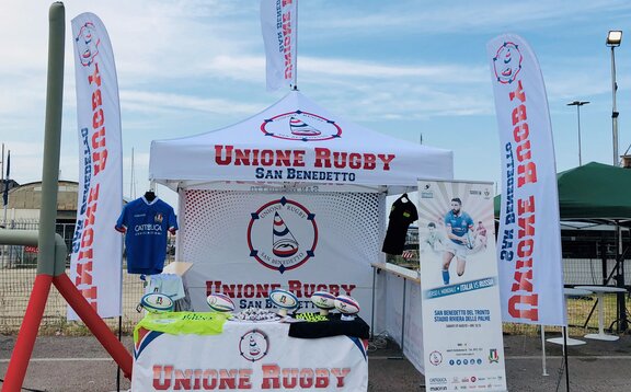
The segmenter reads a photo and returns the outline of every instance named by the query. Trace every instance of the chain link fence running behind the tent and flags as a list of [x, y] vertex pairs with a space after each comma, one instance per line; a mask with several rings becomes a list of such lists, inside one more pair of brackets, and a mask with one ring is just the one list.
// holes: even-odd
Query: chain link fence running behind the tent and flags
[[[34, 220], [12, 221], [7, 224], [13, 230], [37, 230], [38, 223]], [[73, 226], [69, 223], [57, 224], [59, 233], [70, 249]], [[30, 246], [0, 245], [0, 333], [15, 333], [22, 323], [22, 318], [26, 311], [31, 290], [36, 276], [37, 249]], [[168, 261], [173, 261], [174, 252], [168, 252]], [[414, 266], [418, 265], [417, 252], [412, 252], [413, 257], [403, 260], [401, 256], [389, 256], [388, 262]], [[69, 267], [68, 257], [67, 266]], [[564, 278], [566, 286], [577, 285], [601, 285], [603, 277], [610, 274], [616, 267], [613, 260], [595, 258], [566, 258], [563, 261]], [[624, 281], [631, 283], [631, 268], [622, 268]], [[67, 270], [69, 273], [69, 270]], [[136, 323], [141, 319], [142, 313], [136, 310], [142, 293], [144, 281], [138, 275], [129, 275], [126, 265], [123, 265], [123, 315], [122, 332], [131, 333]], [[629, 287], [627, 287], [629, 289]], [[629, 296], [629, 295], [628, 295]], [[627, 297], [626, 307], [629, 314], [629, 303], [631, 298]], [[598, 327], [597, 310], [595, 310], [596, 299], [593, 296], [570, 298], [567, 300], [567, 321], [571, 326], [571, 334], [580, 335], [585, 330], [596, 330]], [[615, 295], [605, 296], [605, 325], [616, 330], [619, 322], [619, 301]], [[81, 322], [68, 322], [66, 320], [67, 303], [55, 288], [50, 290], [44, 318], [39, 332], [42, 334], [81, 334], [89, 333]], [[118, 319], [106, 319], [105, 323], [112, 331], [117, 331]], [[547, 327], [547, 331], [560, 331], [555, 327]], [[538, 326], [527, 324], [504, 323], [504, 331], [513, 334], [538, 333]]]

